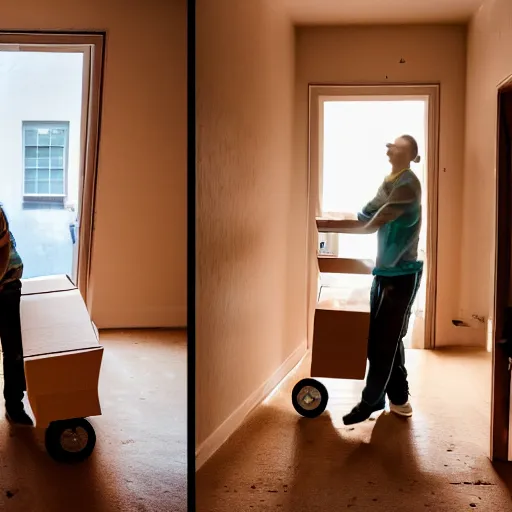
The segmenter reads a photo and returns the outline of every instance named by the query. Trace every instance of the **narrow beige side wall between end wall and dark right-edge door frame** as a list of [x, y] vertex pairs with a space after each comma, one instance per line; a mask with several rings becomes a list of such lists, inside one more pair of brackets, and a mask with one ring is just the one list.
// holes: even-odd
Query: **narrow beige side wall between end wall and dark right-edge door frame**
[[512, 4], [486, 1], [468, 32], [461, 307], [492, 315], [497, 86], [512, 75]]

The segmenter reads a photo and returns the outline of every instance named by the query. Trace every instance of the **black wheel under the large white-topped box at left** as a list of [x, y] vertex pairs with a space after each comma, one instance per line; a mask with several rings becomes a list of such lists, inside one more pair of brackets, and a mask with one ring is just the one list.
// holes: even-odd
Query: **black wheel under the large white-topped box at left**
[[46, 429], [46, 451], [58, 462], [82, 462], [96, 445], [93, 426], [84, 418], [54, 421]]

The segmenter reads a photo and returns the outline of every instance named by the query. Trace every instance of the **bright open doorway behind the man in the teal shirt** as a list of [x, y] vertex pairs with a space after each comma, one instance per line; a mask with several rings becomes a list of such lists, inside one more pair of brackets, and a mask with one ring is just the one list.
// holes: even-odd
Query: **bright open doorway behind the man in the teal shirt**
[[[418, 142], [419, 154], [426, 154], [428, 97], [344, 97], [323, 102], [322, 209], [324, 213], [357, 212], [373, 198], [389, 172], [386, 144], [409, 134]], [[423, 218], [418, 257], [426, 259], [426, 169], [423, 161], [413, 164], [422, 184]], [[320, 234], [320, 252], [339, 258], [374, 260], [377, 234]], [[324, 298], [336, 298], [343, 289], [369, 289], [371, 276], [324, 274]], [[406, 348], [424, 347], [425, 273], [412, 307]]]

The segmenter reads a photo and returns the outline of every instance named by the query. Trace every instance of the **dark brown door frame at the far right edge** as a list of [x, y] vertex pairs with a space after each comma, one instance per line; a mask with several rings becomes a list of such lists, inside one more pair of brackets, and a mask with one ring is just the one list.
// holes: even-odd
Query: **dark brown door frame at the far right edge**
[[[512, 222], [510, 201], [512, 199], [512, 169], [510, 156], [506, 159], [502, 139], [503, 96], [510, 95], [512, 103], [512, 75], [497, 86], [496, 122], [496, 169], [495, 169], [495, 243], [494, 281], [492, 303], [492, 395], [491, 395], [491, 440], [492, 461], [512, 460], [512, 438], [510, 436], [511, 417], [511, 377], [509, 361], [499, 347], [504, 327], [504, 312], [509, 305], [510, 276], [512, 262]], [[508, 161], [507, 161], [508, 160]]]

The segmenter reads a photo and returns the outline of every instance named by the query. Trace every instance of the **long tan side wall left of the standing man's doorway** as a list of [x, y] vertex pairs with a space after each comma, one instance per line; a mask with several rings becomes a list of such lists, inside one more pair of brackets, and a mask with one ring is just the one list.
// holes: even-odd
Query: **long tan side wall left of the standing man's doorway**
[[198, 445], [305, 346], [293, 30], [276, 3], [197, 2]]

